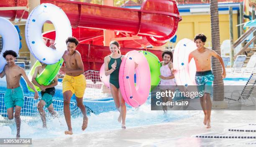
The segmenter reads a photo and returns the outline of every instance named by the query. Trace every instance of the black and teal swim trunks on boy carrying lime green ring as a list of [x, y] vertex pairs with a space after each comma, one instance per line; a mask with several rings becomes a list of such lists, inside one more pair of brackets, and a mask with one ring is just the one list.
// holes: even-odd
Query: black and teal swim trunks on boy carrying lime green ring
[[41, 91], [41, 100], [43, 100], [46, 105], [45, 107], [48, 108], [52, 104], [52, 98], [54, 97], [55, 94], [55, 88], [46, 88], [45, 91]]

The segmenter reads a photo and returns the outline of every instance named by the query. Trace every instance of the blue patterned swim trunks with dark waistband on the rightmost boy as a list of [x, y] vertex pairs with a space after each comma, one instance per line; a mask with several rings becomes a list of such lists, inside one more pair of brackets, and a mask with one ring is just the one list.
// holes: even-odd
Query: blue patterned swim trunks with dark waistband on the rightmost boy
[[214, 75], [212, 75], [212, 70], [207, 70], [203, 72], [196, 72], [195, 82], [197, 84], [198, 92], [212, 94], [212, 83], [214, 81]]

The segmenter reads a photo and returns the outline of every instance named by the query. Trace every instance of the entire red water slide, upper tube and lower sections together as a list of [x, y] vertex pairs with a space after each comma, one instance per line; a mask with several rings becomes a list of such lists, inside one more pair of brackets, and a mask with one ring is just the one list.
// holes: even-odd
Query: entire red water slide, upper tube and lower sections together
[[[27, 6], [27, 3], [27, 0], [0, 0], [0, 7]], [[74, 28], [73, 35], [80, 40], [77, 49], [82, 52], [85, 70], [99, 70], [104, 56], [109, 54], [108, 47], [102, 46], [103, 29], [114, 30], [116, 37], [142, 36], [141, 40], [120, 42], [122, 54], [125, 54], [133, 47], [141, 48], [149, 43], [154, 46], [164, 45], [174, 37], [181, 20], [174, 0], [144, 0], [140, 10], [69, 0], [41, 0], [41, 3], [57, 5], [67, 14]], [[5, 10], [0, 11], [0, 16], [11, 20], [26, 19], [28, 12]], [[44, 39], [48, 43], [54, 41], [55, 32], [44, 34]], [[100, 49], [102, 52], [99, 52]], [[160, 51], [151, 52], [160, 57]]]

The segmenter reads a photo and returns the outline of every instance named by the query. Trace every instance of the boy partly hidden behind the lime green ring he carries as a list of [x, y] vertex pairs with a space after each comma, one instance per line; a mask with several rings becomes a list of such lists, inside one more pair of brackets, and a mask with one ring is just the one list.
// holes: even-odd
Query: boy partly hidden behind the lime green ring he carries
[[41, 63], [41, 66], [37, 66], [34, 72], [34, 75], [32, 77], [32, 82], [34, 85], [38, 86], [41, 90], [41, 100], [38, 102], [37, 105], [37, 109], [40, 113], [42, 122], [43, 122], [43, 127], [46, 128], [46, 117], [45, 117], [45, 112], [44, 112], [44, 106], [48, 109], [48, 111], [51, 113], [51, 115], [53, 116], [57, 116], [56, 111], [54, 111], [54, 107], [52, 104], [52, 98], [54, 97], [55, 94], [55, 86], [58, 85], [58, 78], [57, 76], [54, 78], [53, 82], [51, 82], [50, 85], [48, 86], [44, 86], [44, 85], [40, 85], [37, 81], [36, 81], [36, 77], [37, 75], [39, 75], [41, 72], [43, 72], [43, 70], [46, 67], [46, 64]]

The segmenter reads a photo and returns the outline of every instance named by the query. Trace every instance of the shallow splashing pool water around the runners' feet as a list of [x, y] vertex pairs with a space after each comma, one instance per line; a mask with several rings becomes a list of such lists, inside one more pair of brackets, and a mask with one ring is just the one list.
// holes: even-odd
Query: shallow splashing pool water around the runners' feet
[[[140, 108], [128, 108], [126, 116], [126, 127], [131, 128], [145, 125], [154, 125], [164, 122], [172, 122], [196, 114], [198, 114], [198, 112], [196, 111], [169, 111], [167, 115], [164, 115], [163, 111], [151, 111], [151, 105], [148, 100], [147, 104], [142, 105]], [[98, 115], [92, 113], [89, 116], [89, 122], [86, 131], [81, 130], [82, 116], [72, 118], [73, 132], [74, 134], [81, 134], [105, 130], [118, 130], [121, 127], [121, 124], [117, 121], [118, 116], [119, 112], [117, 111], [102, 112]], [[64, 130], [67, 130], [67, 125], [64, 116], [59, 117], [59, 119], [53, 119], [48, 116], [47, 127], [47, 129], [42, 128], [42, 122], [40, 117], [33, 117], [33, 119], [29, 121], [22, 120], [20, 136], [22, 138], [33, 139], [65, 136]], [[0, 133], [0, 138], [15, 137], [15, 123], [0, 126], [0, 132], [5, 132], [4, 134]]]

